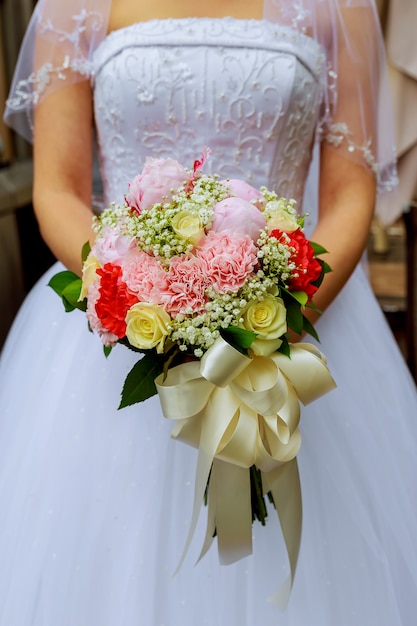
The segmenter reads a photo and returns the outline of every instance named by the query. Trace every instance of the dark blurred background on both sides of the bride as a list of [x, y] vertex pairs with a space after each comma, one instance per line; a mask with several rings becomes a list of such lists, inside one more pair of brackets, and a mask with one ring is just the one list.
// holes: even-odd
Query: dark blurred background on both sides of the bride
[[[400, 188], [391, 222], [374, 220], [369, 278], [417, 380], [417, 0], [376, 3], [392, 83]], [[0, 0], [1, 113], [35, 4], [36, 0]], [[33, 213], [31, 156], [31, 146], [0, 118], [0, 350], [23, 298], [55, 260]]]

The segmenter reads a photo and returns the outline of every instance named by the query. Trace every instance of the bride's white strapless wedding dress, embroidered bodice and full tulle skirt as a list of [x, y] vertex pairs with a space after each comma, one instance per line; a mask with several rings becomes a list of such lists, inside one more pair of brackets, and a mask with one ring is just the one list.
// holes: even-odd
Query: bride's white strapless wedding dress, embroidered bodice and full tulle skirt
[[[319, 114], [318, 45], [263, 21], [164, 20], [115, 31], [94, 54], [105, 201], [147, 155], [305, 194]], [[313, 196], [303, 212], [314, 222]], [[335, 242], [337, 245], [337, 241]], [[0, 370], [1, 626], [414, 626], [417, 394], [361, 267], [317, 324], [337, 388], [302, 409], [303, 532], [288, 575], [276, 515], [253, 555], [219, 564], [187, 536], [196, 450], [154, 397], [117, 411], [136, 355], [106, 359], [47, 286], [26, 299]]]

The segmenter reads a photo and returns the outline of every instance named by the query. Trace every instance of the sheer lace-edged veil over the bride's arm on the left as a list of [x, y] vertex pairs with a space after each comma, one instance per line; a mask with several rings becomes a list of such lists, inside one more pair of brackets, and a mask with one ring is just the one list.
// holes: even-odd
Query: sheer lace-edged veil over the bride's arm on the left
[[111, 0], [39, 0], [16, 64], [4, 121], [33, 141], [33, 111], [57, 89], [92, 72], [92, 55], [107, 34]]

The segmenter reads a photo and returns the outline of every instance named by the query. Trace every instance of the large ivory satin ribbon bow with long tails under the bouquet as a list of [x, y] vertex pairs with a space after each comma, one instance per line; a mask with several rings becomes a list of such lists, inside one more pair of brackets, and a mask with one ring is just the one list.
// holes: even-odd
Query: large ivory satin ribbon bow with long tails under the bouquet
[[221, 337], [201, 361], [184, 363], [155, 380], [162, 411], [175, 420], [172, 437], [198, 448], [194, 505], [185, 558], [208, 487], [208, 518], [200, 560], [216, 531], [222, 564], [252, 553], [249, 468], [261, 470], [272, 492], [290, 564], [290, 576], [270, 599], [285, 607], [301, 540], [301, 487], [296, 455], [301, 444], [300, 402], [335, 387], [321, 352], [297, 343], [290, 358], [279, 352], [249, 358]]

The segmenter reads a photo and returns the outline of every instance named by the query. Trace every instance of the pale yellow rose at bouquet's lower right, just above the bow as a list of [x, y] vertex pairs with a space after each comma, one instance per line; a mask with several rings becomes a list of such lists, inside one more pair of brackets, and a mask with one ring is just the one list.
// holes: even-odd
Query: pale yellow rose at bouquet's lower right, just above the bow
[[243, 314], [243, 327], [258, 335], [251, 345], [254, 354], [274, 352], [287, 331], [287, 310], [282, 298], [266, 295], [263, 300], [250, 302]]

